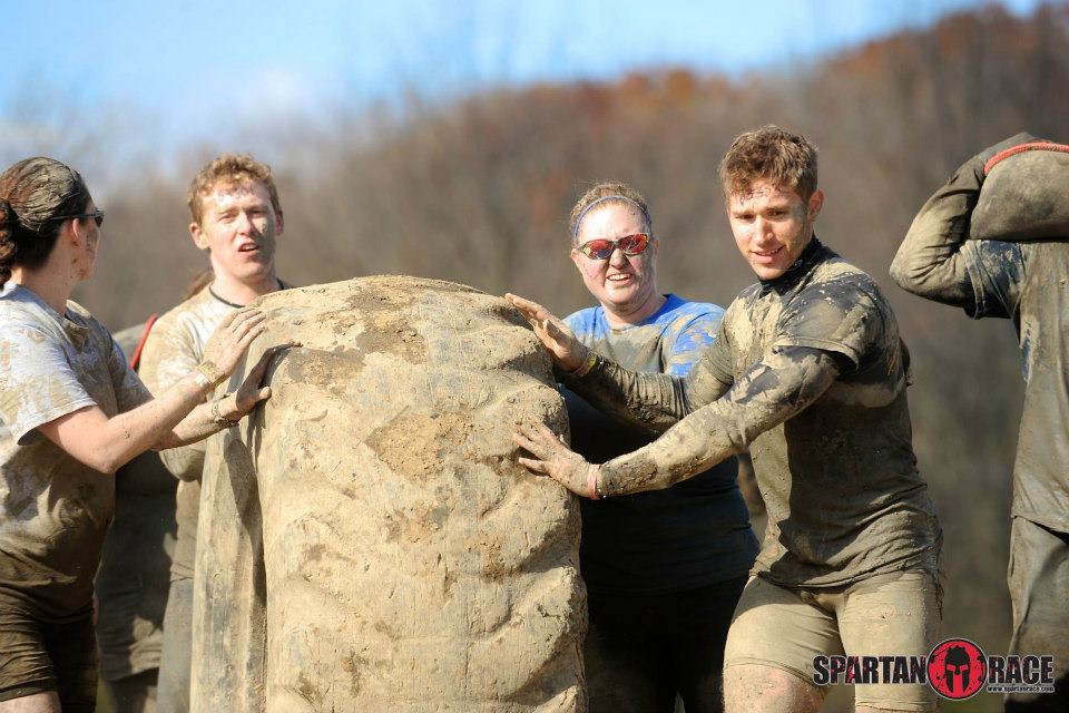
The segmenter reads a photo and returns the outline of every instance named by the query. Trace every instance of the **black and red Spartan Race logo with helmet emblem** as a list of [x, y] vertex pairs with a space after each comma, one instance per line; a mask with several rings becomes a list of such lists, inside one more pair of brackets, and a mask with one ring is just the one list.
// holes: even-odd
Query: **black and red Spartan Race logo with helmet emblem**
[[929, 684], [944, 699], [988, 693], [1053, 693], [1055, 657], [987, 656], [968, 638], [948, 638], [928, 656], [814, 656], [813, 683]]

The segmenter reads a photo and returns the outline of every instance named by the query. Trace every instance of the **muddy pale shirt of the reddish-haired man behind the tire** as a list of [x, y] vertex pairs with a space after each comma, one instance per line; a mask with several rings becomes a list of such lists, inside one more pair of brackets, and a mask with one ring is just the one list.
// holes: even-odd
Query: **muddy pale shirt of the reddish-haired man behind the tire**
[[[215, 328], [235, 309], [205, 287], [159, 318], [141, 350], [139, 371], [145, 385], [159, 393], [193, 371]], [[178, 541], [170, 566], [174, 578], [189, 578], [194, 573], [205, 451], [205, 441], [160, 451], [164, 465], [180, 480], [175, 511]]]

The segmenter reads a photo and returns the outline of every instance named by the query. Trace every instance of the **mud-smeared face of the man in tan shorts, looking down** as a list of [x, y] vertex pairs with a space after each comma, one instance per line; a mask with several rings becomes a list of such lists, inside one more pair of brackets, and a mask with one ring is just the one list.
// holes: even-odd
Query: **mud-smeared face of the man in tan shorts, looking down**
[[810, 238], [824, 193], [807, 202], [793, 188], [757, 180], [727, 202], [727, 217], [735, 244], [761, 280], [775, 280], [798, 258]]

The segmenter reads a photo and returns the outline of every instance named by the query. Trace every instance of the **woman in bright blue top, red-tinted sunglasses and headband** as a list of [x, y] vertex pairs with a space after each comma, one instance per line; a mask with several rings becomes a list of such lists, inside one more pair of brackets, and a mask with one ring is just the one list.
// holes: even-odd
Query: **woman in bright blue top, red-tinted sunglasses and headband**
[[[591, 353], [628, 369], [684, 375], [712, 344], [724, 311], [657, 289], [659, 242], [645, 198], [594, 186], [571, 211], [571, 260], [598, 305], [566, 322]], [[635, 430], [565, 390], [572, 448], [604, 462], [645, 446]], [[667, 490], [581, 500], [585, 646], [591, 713], [722, 711], [720, 668], [757, 539], [736, 462]]]

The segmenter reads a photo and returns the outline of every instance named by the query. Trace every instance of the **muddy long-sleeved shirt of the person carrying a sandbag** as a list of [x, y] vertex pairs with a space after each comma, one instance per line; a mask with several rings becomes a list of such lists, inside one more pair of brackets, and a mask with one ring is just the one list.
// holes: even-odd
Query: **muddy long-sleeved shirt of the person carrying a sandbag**
[[[975, 319], [1012, 320], [1026, 384], [1012, 514], [1069, 533], [1069, 242], [965, 240], [983, 163], [1000, 147], [964, 164], [935, 192], [895, 262], [925, 272], [925, 296], [959, 304]], [[957, 258], [948, 270], [926, 270], [948, 258]]]

